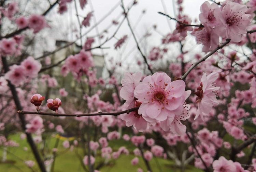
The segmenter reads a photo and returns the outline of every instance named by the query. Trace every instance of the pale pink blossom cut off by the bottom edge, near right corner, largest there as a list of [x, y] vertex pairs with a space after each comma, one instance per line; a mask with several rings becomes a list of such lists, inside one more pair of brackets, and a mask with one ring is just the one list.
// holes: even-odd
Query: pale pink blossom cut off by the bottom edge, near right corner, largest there
[[213, 161], [212, 164], [213, 172], [234, 172], [236, 171], [236, 166], [234, 166], [233, 161], [227, 160], [223, 156], [219, 157], [218, 160]]

